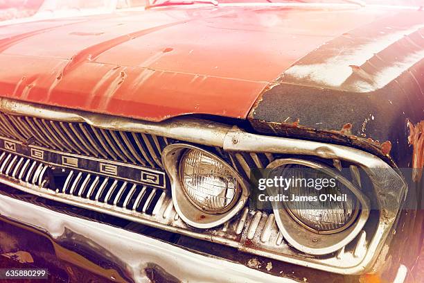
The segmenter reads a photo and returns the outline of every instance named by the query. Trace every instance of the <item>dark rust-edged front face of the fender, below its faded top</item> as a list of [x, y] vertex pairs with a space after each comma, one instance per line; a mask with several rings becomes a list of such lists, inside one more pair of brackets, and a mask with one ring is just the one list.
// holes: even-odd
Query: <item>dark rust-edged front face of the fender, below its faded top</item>
[[281, 82], [263, 92], [249, 121], [258, 132], [347, 144], [407, 167], [405, 121], [421, 121], [424, 110], [424, 85], [412, 71], [424, 76], [424, 60], [372, 92]]

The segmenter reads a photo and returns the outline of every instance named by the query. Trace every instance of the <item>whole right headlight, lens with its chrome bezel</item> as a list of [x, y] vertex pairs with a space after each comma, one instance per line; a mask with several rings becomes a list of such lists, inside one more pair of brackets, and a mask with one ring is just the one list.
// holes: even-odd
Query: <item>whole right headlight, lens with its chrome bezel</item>
[[268, 164], [267, 177], [281, 182], [267, 193], [282, 200], [273, 201], [272, 207], [291, 246], [310, 255], [328, 255], [357, 237], [369, 216], [369, 199], [353, 179], [352, 166], [348, 172], [338, 171], [295, 158]]

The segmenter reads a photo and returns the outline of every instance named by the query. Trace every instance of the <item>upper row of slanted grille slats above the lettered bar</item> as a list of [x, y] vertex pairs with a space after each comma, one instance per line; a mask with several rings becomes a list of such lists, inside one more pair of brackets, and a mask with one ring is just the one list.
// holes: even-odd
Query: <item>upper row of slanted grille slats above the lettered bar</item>
[[3, 112], [0, 112], [0, 135], [63, 153], [157, 169], [163, 168], [161, 152], [170, 143], [166, 137], [106, 130], [88, 123], [20, 117]]

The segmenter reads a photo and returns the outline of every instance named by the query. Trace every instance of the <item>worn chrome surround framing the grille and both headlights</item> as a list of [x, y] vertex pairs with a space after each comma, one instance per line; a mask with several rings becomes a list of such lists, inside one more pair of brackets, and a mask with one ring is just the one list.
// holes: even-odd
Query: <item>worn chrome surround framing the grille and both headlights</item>
[[[90, 126], [105, 130], [142, 132], [145, 135], [156, 135], [167, 139], [177, 139], [188, 143], [215, 147], [217, 151], [228, 153], [233, 165], [238, 168], [240, 173], [244, 171], [245, 174], [249, 173], [249, 164], [245, 160], [246, 155], [251, 156], [251, 160], [257, 165], [262, 163], [262, 160], [258, 158], [259, 155], [271, 160], [273, 154], [312, 155], [327, 160], [346, 160], [357, 164], [369, 174], [376, 190], [376, 195], [379, 196], [378, 204], [380, 205], [381, 213], [378, 217], [380, 222], [376, 229], [373, 230], [371, 237], [365, 230], [360, 232], [359, 237], [353, 241], [353, 249], [344, 247], [336, 255], [329, 255], [324, 258], [306, 257], [290, 248], [283, 240], [278, 227], [276, 227], [275, 220], [268, 220], [270, 218], [273, 220], [275, 216], [267, 212], [253, 212], [245, 208], [238, 217], [224, 223], [222, 227], [198, 232], [188, 228], [181, 221], [173, 208], [173, 203], [170, 201], [169, 196], [166, 198], [167, 201], [164, 200], [164, 204], [161, 205], [156, 216], [151, 217], [135, 213], [125, 214], [113, 205], [91, 205], [91, 203], [81, 202], [75, 196], [64, 198], [59, 194], [51, 194], [51, 191], [46, 191], [46, 189], [39, 186], [30, 185], [22, 181], [17, 182], [12, 178], [5, 178], [3, 175], [0, 177], [0, 182], [30, 194], [93, 209], [98, 212], [105, 212], [130, 221], [186, 234], [197, 239], [222, 243], [252, 254], [272, 257], [311, 268], [324, 269], [334, 273], [362, 274], [369, 271], [396, 222], [396, 209], [401, 207], [406, 192], [405, 182], [388, 164], [374, 155], [347, 146], [256, 135], [222, 123], [200, 119], [179, 118], [161, 123], [151, 123], [121, 117], [110, 117], [103, 114], [63, 110], [61, 108], [14, 101], [8, 98], [0, 98], [0, 111], [14, 117], [29, 116], [38, 119], [66, 121], [67, 123], [87, 123]], [[13, 130], [10, 131], [8, 132], [8, 130], [2, 128], [2, 130], [0, 129], [0, 135], [14, 137], [15, 133]], [[19, 136], [19, 134], [16, 135]], [[266, 166], [266, 164], [263, 165]], [[373, 172], [373, 169], [386, 169], [387, 175], [378, 176]], [[385, 206], [386, 203], [393, 204], [396, 209], [393, 206], [390, 209], [387, 208]]]

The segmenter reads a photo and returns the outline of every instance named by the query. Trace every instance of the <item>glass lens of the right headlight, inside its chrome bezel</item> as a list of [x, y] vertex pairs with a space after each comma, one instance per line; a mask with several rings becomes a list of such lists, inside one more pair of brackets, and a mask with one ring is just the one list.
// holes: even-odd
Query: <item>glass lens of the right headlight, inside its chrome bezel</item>
[[[330, 234], [340, 232], [355, 221], [358, 201], [353, 192], [337, 176], [328, 175], [319, 169], [301, 164], [277, 167], [272, 175], [302, 180], [292, 182], [284, 194], [309, 198], [311, 201], [288, 201], [285, 206], [289, 214], [301, 225], [317, 233]], [[322, 180], [333, 180], [332, 185]], [[313, 184], [312, 186], [308, 186]], [[319, 201], [315, 201], [315, 200]]]

